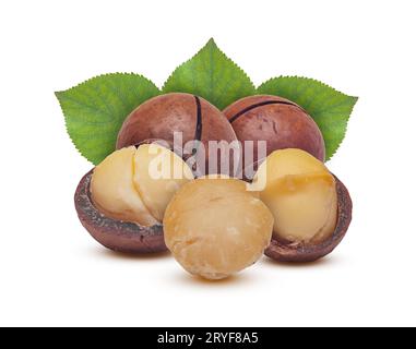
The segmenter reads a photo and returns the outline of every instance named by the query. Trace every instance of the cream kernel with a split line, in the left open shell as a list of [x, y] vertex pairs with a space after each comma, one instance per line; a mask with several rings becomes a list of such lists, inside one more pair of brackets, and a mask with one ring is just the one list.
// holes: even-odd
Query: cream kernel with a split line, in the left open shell
[[[154, 163], [166, 178], [152, 178], [150, 168]], [[182, 172], [175, 179], [166, 168], [180, 168]], [[183, 172], [188, 176], [186, 179]], [[152, 145], [150, 152], [148, 144], [139, 148], [130, 146], [114, 152], [95, 167], [91, 196], [94, 205], [107, 217], [153, 226], [162, 222], [167, 202], [189, 180], [189, 173], [192, 177], [186, 163], [167, 148]]]

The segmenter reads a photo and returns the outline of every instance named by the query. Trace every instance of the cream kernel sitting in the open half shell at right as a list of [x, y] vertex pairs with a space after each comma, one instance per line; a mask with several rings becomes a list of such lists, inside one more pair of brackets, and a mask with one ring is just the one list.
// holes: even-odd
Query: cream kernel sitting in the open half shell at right
[[266, 176], [260, 197], [274, 216], [276, 238], [318, 243], [334, 232], [335, 179], [321, 161], [300, 149], [276, 151], [260, 166], [254, 182], [260, 176]]

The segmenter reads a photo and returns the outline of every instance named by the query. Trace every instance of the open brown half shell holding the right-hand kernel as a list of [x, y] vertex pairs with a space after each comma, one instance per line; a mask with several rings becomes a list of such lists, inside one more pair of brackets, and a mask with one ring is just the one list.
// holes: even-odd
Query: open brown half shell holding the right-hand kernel
[[338, 217], [334, 233], [318, 243], [288, 243], [272, 237], [264, 254], [278, 262], [313, 262], [331, 253], [344, 239], [352, 220], [353, 202], [346, 186], [334, 176], [338, 201]]

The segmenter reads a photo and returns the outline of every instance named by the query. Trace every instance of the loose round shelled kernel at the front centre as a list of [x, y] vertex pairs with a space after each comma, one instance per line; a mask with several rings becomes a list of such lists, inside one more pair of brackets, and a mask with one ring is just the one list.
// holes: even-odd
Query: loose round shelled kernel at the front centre
[[185, 184], [164, 218], [165, 242], [182, 267], [207, 279], [253, 264], [269, 245], [273, 216], [237, 179], [200, 178]]

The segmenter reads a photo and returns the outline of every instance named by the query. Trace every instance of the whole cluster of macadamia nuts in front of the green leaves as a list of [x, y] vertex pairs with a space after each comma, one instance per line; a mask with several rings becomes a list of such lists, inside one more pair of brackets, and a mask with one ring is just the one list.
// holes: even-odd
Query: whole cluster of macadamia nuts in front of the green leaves
[[[254, 157], [243, 152], [235, 158], [183, 155], [171, 146], [175, 132], [181, 132], [183, 143], [202, 145], [251, 141]], [[264, 157], [257, 156], [257, 141], [266, 143]], [[198, 96], [162, 95], [127, 117], [116, 148], [75, 192], [81, 222], [111, 250], [168, 249], [189, 273], [221, 279], [252, 265], [263, 252], [282, 262], [316, 261], [347, 231], [348, 191], [322, 163], [318, 125], [290, 100], [250, 96], [222, 112]], [[218, 169], [224, 161], [233, 168], [237, 159], [255, 174], [243, 181], [207, 166], [195, 172], [194, 165], [206, 165], [212, 156]]]

